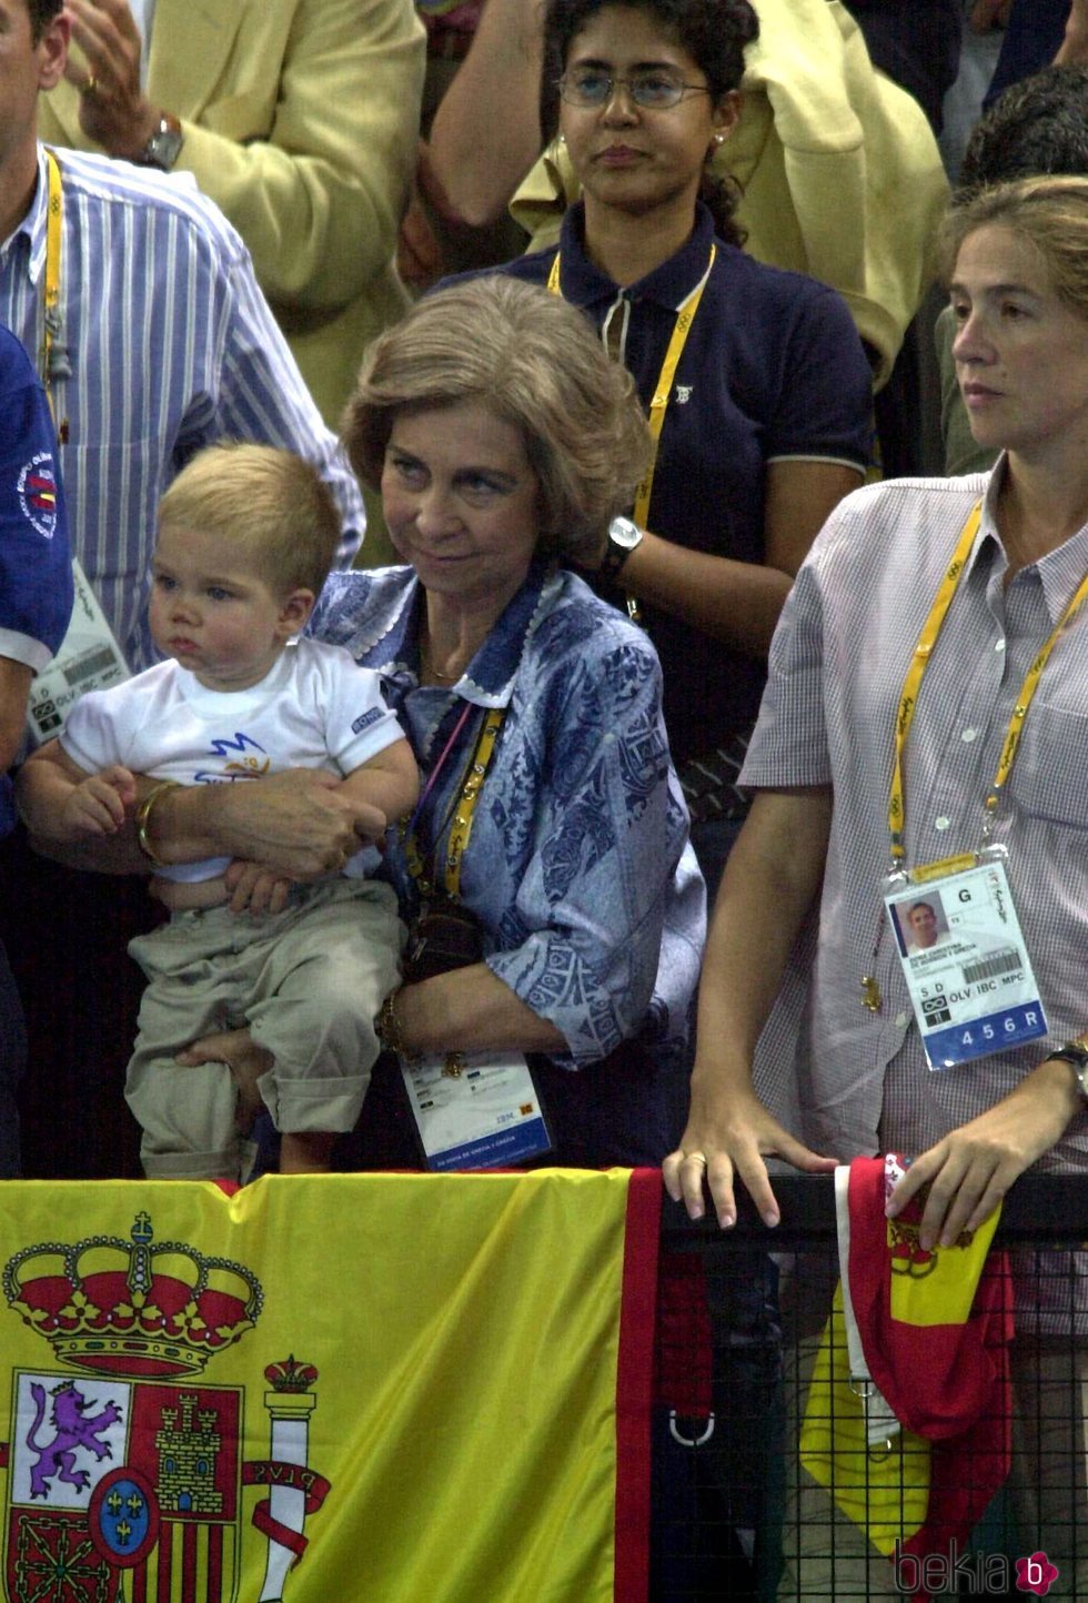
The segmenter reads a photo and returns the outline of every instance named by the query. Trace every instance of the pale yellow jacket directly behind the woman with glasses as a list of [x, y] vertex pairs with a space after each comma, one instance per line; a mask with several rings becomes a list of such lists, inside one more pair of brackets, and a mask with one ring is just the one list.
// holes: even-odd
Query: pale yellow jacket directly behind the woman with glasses
[[[830, 284], [878, 353], [883, 383], [931, 281], [949, 186], [925, 112], [872, 66], [838, 0], [753, 0], [743, 109], [715, 167], [740, 181], [737, 221], [760, 261]], [[566, 149], [545, 151], [511, 202], [554, 244], [578, 194]]]

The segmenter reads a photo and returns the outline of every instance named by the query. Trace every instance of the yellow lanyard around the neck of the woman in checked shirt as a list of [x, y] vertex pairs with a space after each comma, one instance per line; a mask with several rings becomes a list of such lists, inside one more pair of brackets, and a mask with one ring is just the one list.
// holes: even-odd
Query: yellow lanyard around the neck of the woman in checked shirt
[[[904, 680], [902, 692], [899, 696], [899, 712], [896, 715], [896, 753], [891, 774], [891, 790], [888, 795], [888, 830], [891, 834], [891, 861], [899, 867], [905, 858], [905, 848], [902, 843], [905, 811], [904, 811], [904, 782], [902, 782], [902, 753], [907, 745], [907, 736], [910, 734], [910, 726], [915, 720], [915, 709], [918, 705], [918, 691], [921, 688], [921, 680], [929, 667], [929, 657], [933, 656], [933, 648], [937, 643], [937, 635], [941, 633], [941, 625], [945, 620], [949, 608], [952, 606], [952, 598], [960, 587], [963, 572], [966, 569], [966, 561], [971, 553], [971, 545], [979, 531], [979, 519], [982, 516], [982, 503], [973, 510], [971, 516], [963, 526], [963, 532], [957, 542], [955, 555], [949, 563], [944, 579], [941, 580], [941, 588], [937, 590], [933, 608], [929, 609], [929, 617], [926, 619], [921, 635], [918, 636], [918, 644], [915, 646], [915, 654], [910, 660], [910, 668], [907, 670], [907, 678]], [[1058, 644], [1066, 627], [1074, 620], [1080, 608], [1088, 600], [1088, 574], [1080, 580], [1077, 592], [1058, 619], [1058, 625], [1043, 644], [1038, 656], [1027, 670], [1027, 678], [1021, 684], [1021, 692], [1013, 705], [1013, 717], [1008, 721], [1008, 729], [1005, 731], [1005, 741], [1001, 742], [1001, 755], [997, 765], [997, 773], [993, 774], [993, 782], [990, 792], [985, 798], [985, 814], [987, 821], [993, 819], [997, 813], [998, 802], [1001, 798], [1001, 787], [1008, 779], [1013, 763], [1016, 761], [1016, 752], [1021, 744], [1021, 734], [1024, 733], [1024, 723], [1027, 720], [1027, 710], [1032, 705], [1032, 697], [1038, 689], [1038, 681], [1043, 676], [1043, 668], [1050, 662], [1050, 654]]]

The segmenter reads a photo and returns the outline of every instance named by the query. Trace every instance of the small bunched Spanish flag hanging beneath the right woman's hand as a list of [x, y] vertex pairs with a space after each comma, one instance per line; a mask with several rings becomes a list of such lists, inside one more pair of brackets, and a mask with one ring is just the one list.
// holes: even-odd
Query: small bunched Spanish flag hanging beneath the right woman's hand
[[[953, 1247], [925, 1252], [920, 1199], [885, 1217], [897, 1169], [894, 1157], [849, 1165], [840, 1218], [849, 1295], [840, 1284], [809, 1387], [801, 1464], [881, 1553], [899, 1544], [925, 1558], [963, 1544], [1008, 1475], [1013, 1310], [1005, 1257], [989, 1250], [1000, 1210]], [[851, 1355], [851, 1318], [860, 1358]]]

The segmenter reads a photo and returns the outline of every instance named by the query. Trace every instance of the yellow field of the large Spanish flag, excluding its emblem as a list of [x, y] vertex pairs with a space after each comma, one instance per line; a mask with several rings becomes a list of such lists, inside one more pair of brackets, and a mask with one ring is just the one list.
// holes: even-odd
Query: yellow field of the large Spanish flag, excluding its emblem
[[[125, 1254], [104, 1242], [127, 1242], [133, 1220], [146, 1215], [152, 1250], [173, 1244], [155, 1273], [192, 1279], [199, 1262], [191, 1254], [202, 1254], [256, 1276], [261, 1306], [202, 1374], [179, 1383], [128, 1379], [119, 1395], [127, 1430], [135, 1388], [143, 1388], [141, 1412], [154, 1431], [157, 1393], [200, 1390], [213, 1403], [216, 1388], [240, 1388], [244, 1439], [218, 1449], [237, 1489], [239, 1545], [224, 1548], [224, 1597], [261, 1595], [269, 1544], [253, 1510], [284, 1480], [290, 1457], [282, 1439], [274, 1451], [280, 1427], [269, 1369], [293, 1356], [317, 1371], [295, 1464], [328, 1481], [328, 1491], [306, 1515], [309, 1545], [285, 1597], [612, 1603], [628, 1186], [625, 1169], [269, 1177], [234, 1197], [181, 1180], [11, 1180], [0, 1270], [35, 1244], [98, 1238], [82, 1270], [119, 1270], [117, 1295], [131, 1305]], [[62, 1273], [64, 1255], [54, 1247], [37, 1270], [24, 1258], [24, 1292], [42, 1268]], [[218, 1284], [226, 1271], [210, 1274]], [[72, 1321], [80, 1318], [75, 1298]], [[199, 1335], [199, 1310], [186, 1319]], [[16, 1448], [26, 1433], [14, 1417], [16, 1374], [40, 1380], [46, 1396], [72, 1380], [99, 1399], [91, 1412], [114, 1385], [101, 1371], [66, 1366], [40, 1322], [0, 1300], [0, 1441], [13, 1444], [0, 1492], [38, 1512], [27, 1486], [34, 1457]], [[48, 1427], [42, 1439], [51, 1439]], [[154, 1443], [141, 1462], [149, 1457], [154, 1475]], [[250, 1484], [244, 1460], [279, 1460], [280, 1468]], [[123, 1441], [101, 1464], [83, 1451], [79, 1457], [95, 1483], [127, 1462]], [[176, 1576], [176, 1547], [173, 1557]], [[207, 1561], [203, 1537], [197, 1561]], [[237, 1590], [229, 1585], [236, 1573]], [[197, 1587], [195, 1597], [205, 1592]]]

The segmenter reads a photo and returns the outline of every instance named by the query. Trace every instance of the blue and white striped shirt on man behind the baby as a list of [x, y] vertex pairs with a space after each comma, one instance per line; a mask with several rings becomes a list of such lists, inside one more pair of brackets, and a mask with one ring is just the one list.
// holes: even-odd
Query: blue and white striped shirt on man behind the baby
[[[239, 234], [176, 176], [58, 151], [61, 327], [53, 404], [72, 547], [133, 670], [155, 652], [146, 620], [159, 497], [202, 446], [248, 439], [311, 460], [343, 515], [338, 564], [359, 548], [359, 487], [253, 277]], [[48, 176], [0, 245], [0, 324], [37, 364]], [[48, 378], [50, 375], [43, 375]]]

